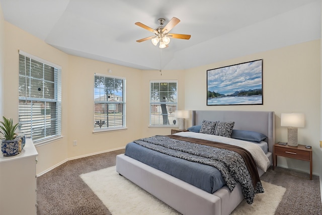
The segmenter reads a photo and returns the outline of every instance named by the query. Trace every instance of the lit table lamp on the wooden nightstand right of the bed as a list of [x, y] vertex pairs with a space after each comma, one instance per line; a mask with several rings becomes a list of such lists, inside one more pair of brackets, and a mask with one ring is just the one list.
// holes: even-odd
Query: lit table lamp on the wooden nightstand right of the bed
[[303, 113], [282, 113], [281, 126], [287, 127], [287, 144], [297, 147], [297, 128], [304, 127]]

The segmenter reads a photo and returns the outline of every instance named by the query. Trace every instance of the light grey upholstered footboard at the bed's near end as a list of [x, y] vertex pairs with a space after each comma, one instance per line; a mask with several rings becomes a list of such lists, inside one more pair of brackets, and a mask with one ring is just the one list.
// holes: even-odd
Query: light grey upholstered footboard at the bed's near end
[[183, 214], [221, 214], [218, 196], [124, 154], [116, 156], [116, 171]]

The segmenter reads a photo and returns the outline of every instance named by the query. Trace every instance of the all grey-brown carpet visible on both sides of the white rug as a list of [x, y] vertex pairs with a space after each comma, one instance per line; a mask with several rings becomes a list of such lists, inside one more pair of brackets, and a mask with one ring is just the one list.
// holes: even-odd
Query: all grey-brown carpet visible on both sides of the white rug
[[[68, 161], [37, 178], [37, 214], [111, 214], [79, 177], [83, 173], [115, 166], [124, 150]], [[322, 214], [319, 177], [283, 168], [271, 168], [261, 180], [286, 188], [276, 214]]]

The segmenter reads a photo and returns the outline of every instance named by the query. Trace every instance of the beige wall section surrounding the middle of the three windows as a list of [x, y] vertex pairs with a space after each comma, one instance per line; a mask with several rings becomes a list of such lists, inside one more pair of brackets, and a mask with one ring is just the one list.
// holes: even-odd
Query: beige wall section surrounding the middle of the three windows
[[[68, 158], [123, 148], [127, 142], [139, 138], [143, 106], [141, 71], [75, 56], [69, 56], [69, 65]], [[108, 72], [109, 69], [112, 73]], [[126, 79], [127, 129], [93, 133], [94, 73]], [[75, 147], [73, 140], [77, 140]]]

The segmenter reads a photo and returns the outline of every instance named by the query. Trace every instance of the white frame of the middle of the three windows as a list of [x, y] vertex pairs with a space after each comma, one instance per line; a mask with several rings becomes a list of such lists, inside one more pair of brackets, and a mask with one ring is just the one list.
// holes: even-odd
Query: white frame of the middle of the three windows
[[[108, 79], [116, 79], [116, 80], [119, 80], [119, 81], [122, 81], [122, 101], [119, 100], [120, 97], [116, 97], [115, 94], [114, 95], [110, 95], [110, 96], [113, 96], [112, 98], [116, 98], [116, 101], [106, 101], [105, 100], [105, 97], [106, 99], [108, 100], [108, 96], [109, 95], [105, 95], [104, 93], [104, 100], [103, 101], [100, 101], [100, 100], [96, 100], [96, 91], [98, 90], [97, 87], [95, 86], [95, 82], [96, 82], [96, 78], [97, 77], [101, 77], [101, 78], [108, 78]], [[115, 87], [115, 86], [114, 86]], [[105, 91], [105, 86], [104, 86], [104, 91]], [[113, 89], [113, 92], [115, 93], [116, 91], [118, 91], [117, 89]], [[102, 94], [100, 94], [102, 95]], [[100, 96], [102, 97], [102, 96]], [[109, 126], [104, 126], [103, 128], [102, 127], [98, 127], [99, 124], [98, 124], [98, 120], [96, 120], [96, 104], [106, 104], [106, 105], [109, 105], [109, 106], [112, 106], [112, 107], [115, 107], [114, 110], [117, 110], [117, 109], [122, 109], [122, 112], [121, 112], [121, 116], [122, 116], [122, 125], [121, 126], [118, 126], [119, 124], [117, 123], [114, 123], [114, 125], [112, 125], [111, 127]], [[118, 106], [122, 104], [122, 106]], [[108, 110], [108, 108], [107, 108]], [[114, 111], [114, 121], [117, 121], [117, 112]], [[112, 115], [113, 115], [112, 113]], [[104, 123], [105, 121], [107, 120], [107, 116], [106, 116], [106, 113], [104, 113], [105, 116], [104, 116]], [[109, 117], [110, 118], [110, 117]], [[112, 116], [113, 118], [113, 116]], [[124, 77], [117, 77], [117, 76], [111, 76], [111, 75], [106, 75], [106, 74], [98, 74], [98, 73], [95, 73], [94, 74], [94, 116], [93, 116], [93, 119], [94, 119], [94, 123], [93, 123], [93, 133], [100, 133], [100, 132], [106, 132], [106, 131], [114, 131], [114, 130], [123, 130], [123, 129], [127, 129], [126, 127], [126, 78]], [[109, 120], [107, 120], [109, 121]], [[118, 120], [119, 121], [119, 120]]]

